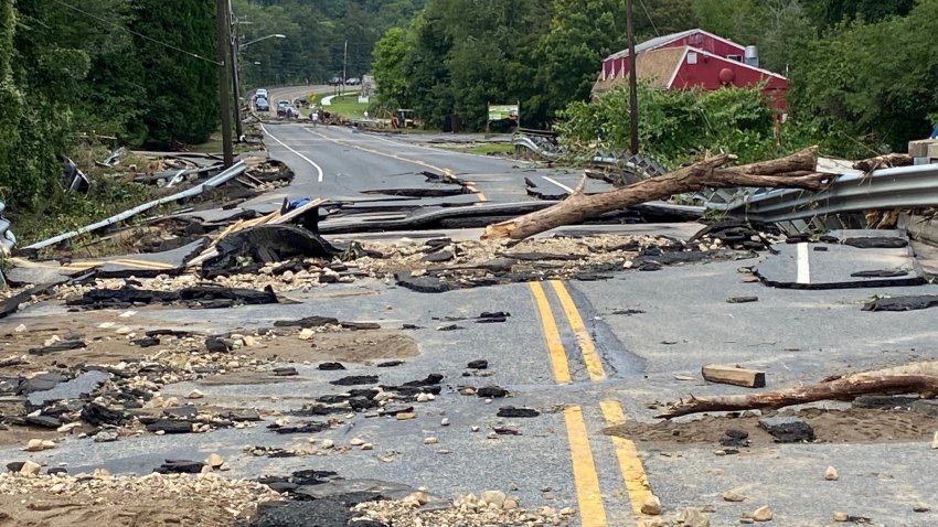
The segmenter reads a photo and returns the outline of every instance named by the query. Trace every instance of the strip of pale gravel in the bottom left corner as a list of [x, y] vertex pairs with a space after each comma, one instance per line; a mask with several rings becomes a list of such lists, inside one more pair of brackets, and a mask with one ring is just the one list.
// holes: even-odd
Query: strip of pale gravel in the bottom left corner
[[0, 495], [35, 495], [49, 493], [62, 496], [76, 496], [87, 499], [99, 498], [107, 494], [109, 501], [116, 496], [127, 498], [173, 499], [186, 496], [203, 503], [223, 504], [233, 519], [246, 519], [263, 502], [281, 499], [270, 487], [247, 481], [230, 480], [212, 472], [199, 475], [159, 474], [145, 476], [113, 476], [98, 470], [95, 474], [74, 476], [56, 473], [53, 475], [26, 475], [26, 473], [0, 474]]

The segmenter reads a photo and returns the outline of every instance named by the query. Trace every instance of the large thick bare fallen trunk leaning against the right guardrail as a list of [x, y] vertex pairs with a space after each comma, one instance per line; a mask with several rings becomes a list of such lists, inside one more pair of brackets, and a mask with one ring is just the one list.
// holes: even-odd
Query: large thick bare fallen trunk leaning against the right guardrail
[[743, 166], [723, 168], [734, 158], [721, 154], [669, 174], [601, 194], [585, 195], [584, 181], [569, 197], [556, 205], [524, 216], [490, 225], [482, 239], [524, 239], [544, 230], [598, 217], [640, 203], [704, 189], [767, 186], [821, 191], [833, 178], [817, 173], [817, 148], [787, 158]]

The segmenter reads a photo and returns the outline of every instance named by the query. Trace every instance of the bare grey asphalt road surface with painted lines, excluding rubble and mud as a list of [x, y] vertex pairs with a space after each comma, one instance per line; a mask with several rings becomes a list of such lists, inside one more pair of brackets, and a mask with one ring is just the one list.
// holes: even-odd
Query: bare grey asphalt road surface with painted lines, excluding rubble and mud
[[[281, 194], [291, 197], [364, 198], [370, 190], [423, 184], [417, 172], [450, 172], [471, 182], [477, 202], [526, 198], [523, 178], [553, 178], [518, 163], [458, 154], [339, 128], [299, 123], [266, 126], [273, 157], [286, 161], [296, 180]], [[575, 178], [558, 172], [554, 178]], [[567, 180], [564, 180], [567, 181]], [[545, 183], [546, 184], [546, 183]], [[619, 230], [653, 233], [654, 226]], [[687, 227], [693, 230], [693, 226]], [[661, 226], [662, 234], [675, 234]], [[686, 233], [682, 233], [686, 235]], [[785, 255], [782, 255], [785, 256]], [[296, 365], [290, 380], [249, 386], [184, 383], [164, 395], [184, 396], [198, 387], [204, 404], [274, 410], [297, 409], [313, 397], [339, 392], [328, 384], [338, 377], [377, 374], [383, 384], [398, 384], [438, 373], [441, 395], [418, 404], [418, 418], [396, 421], [351, 417], [339, 428], [316, 434], [347, 444], [352, 438], [374, 443], [373, 451], [350, 450], [308, 458], [255, 458], [245, 445], [288, 448], [306, 437], [278, 435], [263, 426], [218, 430], [207, 434], [125, 438], [116, 443], [70, 439], [51, 451], [24, 455], [0, 450], [4, 460], [25, 456], [50, 466], [67, 463], [79, 472], [105, 466], [111, 472], [146, 473], [164, 459], [202, 459], [218, 452], [233, 476], [287, 474], [299, 469], [334, 470], [347, 477], [424, 486], [444, 498], [497, 488], [518, 495], [523, 506], [576, 507], [583, 527], [641, 525], [642, 503], [658, 496], [667, 513], [711, 507], [713, 526], [738, 525], [740, 514], [761, 505], [775, 512], [771, 525], [825, 526], [834, 512], [872, 518], [873, 525], [926, 527], [938, 514], [915, 513], [919, 502], [938, 507], [938, 487], [929, 441], [894, 440], [870, 427], [865, 441], [769, 444], [717, 455], [714, 442], [633, 443], [604, 433], [626, 421], [655, 423], [655, 402], [696, 396], [739, 394], [745, 389], [704, 383], [702, 365], [742, 364], [763, 369], [769, 388], [798, 387], [828, 376], [844, 375], [938, 355], [935, 311], [874, 313], [861, 311], [875, 295], [938, 294], [936, 286], [845, 290], [774, 289], [744, 282], [740, 267], [763, 259], [665, 268], [658, 272], [622, 271], [595, 282], [518, 283], [443, 294], [424, 294], [376, 280], [330, 284], [288, 294], [296, 303], [203, 310], [198, 318], [183, 309], [147, 309], [146, 316], [167, 327], [206, 333], [270, 326], [277, 320], [310, 315], [379, 322], [409, 334], [419, 356], [396, 368], [350, 365], [345, 372], [320, 372]], [[811, 276], [849, 278], [851, 266], [836, 258], [810, 255]], [[845, 258], [852, 258], [850, 256]], [[870, 268], [894, 265], [894, 256], [871, 259]], [[798, 276], [797, 260], [789, 265]], [[755, 295], [754, 303], [728, 303], [728, 297]], [[2, 330], [32, 318], [61, 313], [45, 303], [0, 323]], [[632, 310], [632, 311], [628, 311]], [[475, 316], [507, 311], [501, 324], [458, 322], [462, 330], [438, 331], [443, 316]], [[102, 311], [118, 321], [119, 312]], [[631, 313], [631, 314], [626, 314]], [[124, 319], [121, 325], [134, 324]], [[135, 327], [136, 329], [136, 327]], [[487, 359], [486, 376], [466, 373], [469, 361]], [[498, 385], [511, 397], [491, 402], [459, 394], [465, 386]], [[499, 408], [526, 407], [540, 416], [499, 418]], [[842, 408], [824, 402], [820, 408]], [[448, 427], [441, 419], [450, 420]], [[696, 418], [682, 418], [690, 422]], [[726, 428], [733, 422], [727, 421]], [[472, 427], [479, 427], [478, 432]], [[495, 428], [519, 435], [489, 439]], [[428, 437], [438, 444], [425, 444]], [[387, 461], [390, 459], [391, 461]], [[827, 466], [840, 473], [824, 481]], [[738, 490], [743, 503], [722, 499]]]

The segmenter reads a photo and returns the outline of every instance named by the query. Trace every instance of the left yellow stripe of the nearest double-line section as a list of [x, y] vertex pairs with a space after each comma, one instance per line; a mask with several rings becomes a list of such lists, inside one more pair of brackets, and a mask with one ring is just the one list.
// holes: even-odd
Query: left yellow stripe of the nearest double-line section
[[596, 465], [593, 463], [593, 451], [589, 450], [583, 410], [578, 406], [569, 407], [564, 410], [564, 419], [567, 426], [580, 525], [583, 527], [606, 527], [608, 525], [606, 523], [606, 508], [603, 506], [599, 476], [596, 475]]

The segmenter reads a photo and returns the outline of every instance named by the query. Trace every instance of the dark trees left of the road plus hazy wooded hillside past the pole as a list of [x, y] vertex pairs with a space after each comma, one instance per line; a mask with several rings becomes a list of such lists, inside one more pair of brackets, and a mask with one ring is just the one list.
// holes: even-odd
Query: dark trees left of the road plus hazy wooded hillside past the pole
[[[371, 67], [385, 29], [423, 0], [233, 0], [245, 87]], [[102, 138], [175, 149], [217, 130], [212, 0], [0, 0], [0, 200], [35, 209], [60, 157]], [[345, 53], [348, 42], [348, 54]], [[114, 139], [109, 139], [114, 138]]]

